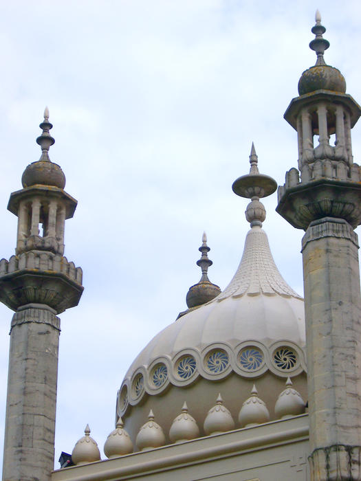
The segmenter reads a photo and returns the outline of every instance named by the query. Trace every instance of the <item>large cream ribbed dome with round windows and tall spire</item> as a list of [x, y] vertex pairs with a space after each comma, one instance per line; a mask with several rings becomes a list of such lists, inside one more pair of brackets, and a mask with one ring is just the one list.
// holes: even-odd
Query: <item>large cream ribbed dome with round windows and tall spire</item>
[[[255, 378], [268, 406], [275, 405], [289, 375], [306, 396], [303, 299], [282, 278], [262, 229], [260, 199], [276, 190], [276, 182], [259, 172], [254, 145], [250, 173], [234, 181], [233, 190], [250, 199], [245, 215], [251, 229], [241, 262], [224, 291], [182, 313], [131, 364], [118, 394], [117, 415], [133, 441], [151, 409], [162, 412], [160, 425], [168, 433], [184, 399], [201, 436], [232, 429], [232, 418], [248, 397], [242, 394], [252, 390]], [[206, 271], [205, 238], [201, 249]], [[228, 411], [223, 401], [216, 406], [212, 401], [219, 392]]]

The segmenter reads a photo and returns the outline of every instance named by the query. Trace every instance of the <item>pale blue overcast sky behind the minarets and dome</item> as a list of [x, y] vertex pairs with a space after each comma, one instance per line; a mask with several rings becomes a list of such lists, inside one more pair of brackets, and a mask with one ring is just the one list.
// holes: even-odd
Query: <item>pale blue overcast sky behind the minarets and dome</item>
[[[102, 452], [131, 361], [186, 309], [204, 230], [210, 280], [224, 289], [232, 278], [249, 226], [248, 201], [231, 185], [249, 171], [252, 141], [278, 183], [297, 165], [283, 113], [316, 61], [316, 8], [331, 43], [325, 60], [360, 102], [359, 0], [3, 1], [0, 258], [14, 253], [17, 218], [6, 206], [40, 157], [45, 105], [50, 158], [78, 199], [65, 255], [83, 268], [85, 291], [61, 314], [56, 468], [87, 423]], [[360, 152], [355, 126], [358, 163]], [[276, 264], [302, 293], [303, 232], [274, 212], [276, 194], [264, 203]], [[1, 305], [0, 315], [2, 445], [12, 312]]]

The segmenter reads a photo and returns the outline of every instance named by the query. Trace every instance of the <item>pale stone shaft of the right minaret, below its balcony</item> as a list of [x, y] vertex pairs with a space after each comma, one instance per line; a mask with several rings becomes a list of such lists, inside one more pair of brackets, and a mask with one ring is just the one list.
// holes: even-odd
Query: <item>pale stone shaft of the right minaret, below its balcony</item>
[[303, 238], [313, 481], [360, 480], [361, 324], [358, 237], [343, 219]]

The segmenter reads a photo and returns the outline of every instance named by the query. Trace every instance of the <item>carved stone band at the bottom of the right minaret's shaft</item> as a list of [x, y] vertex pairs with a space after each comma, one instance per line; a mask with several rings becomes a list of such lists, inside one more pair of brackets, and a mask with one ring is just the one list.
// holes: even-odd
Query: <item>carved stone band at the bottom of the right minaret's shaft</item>
[[361, 446], [318, 447], [308, 460], [311, 481], [358, 481], [361, 478]]

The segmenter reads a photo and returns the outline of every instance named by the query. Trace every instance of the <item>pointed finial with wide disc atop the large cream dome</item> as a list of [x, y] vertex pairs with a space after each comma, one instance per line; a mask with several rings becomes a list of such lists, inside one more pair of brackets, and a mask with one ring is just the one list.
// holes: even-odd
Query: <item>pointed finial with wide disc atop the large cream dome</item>
[[251, 227], [254, 227], [254, 225], [262, 227], [262, 222], [265, 220], [265, 207], [259, 199], [273, 194], [277, 188], [277, 183], [272, 177], [259, 173], [258, 157], [253, 142], [250, 164], [250, 173], [235, 180], [232, 185], [232, 190], [234, 194], [240, 197], [252, 199], [252, 202], [248, 204], [247, 210], [245, 211], [245, 218], [250, 222]]

